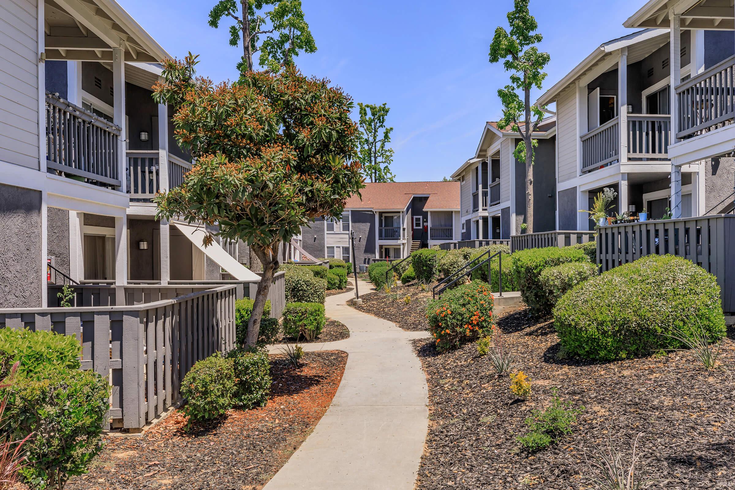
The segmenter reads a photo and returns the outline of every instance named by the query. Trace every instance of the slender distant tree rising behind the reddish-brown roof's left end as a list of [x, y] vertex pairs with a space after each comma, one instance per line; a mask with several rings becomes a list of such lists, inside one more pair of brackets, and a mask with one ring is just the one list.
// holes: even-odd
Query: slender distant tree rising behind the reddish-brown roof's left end
[[362, 102], [357, 105], [360, 112], [359, 155], [365, 179], [370, 179], [370, 182], [393, 182], [395, 176], [390, 171], [393, 149], [387, 147], [393, 129], [385, 127], [390, 107], [385, 102], [379, 106]]

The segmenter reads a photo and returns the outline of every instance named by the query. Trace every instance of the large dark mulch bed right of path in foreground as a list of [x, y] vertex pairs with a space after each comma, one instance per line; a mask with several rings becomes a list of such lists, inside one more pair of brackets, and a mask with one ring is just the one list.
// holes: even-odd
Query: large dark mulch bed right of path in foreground
[[[437, 355], [415, 341], [429, 382], [430, 424], [417, 488], [596, 489], [585, 450], [611, 443], [630, 464], [638, 443], [642, 475], [652, 489], [735, 489], [735, 383], [728, 370], [707, 372], [692, 353], [675, 352], [610, 363], [557, 359], [551, 321], [524, 309], [498, 320], [516, 369], [532, 380], [526, 402], [514, 400], [507, 375], [498, 377], [475, 344]], [[723, 347], [723, 366], [735, 368], [735, 336]], [[536, 454], [520, 450], [517, 436], [532, 408], [546, 408], [552, 391], [586, 409], [571, 436]]]

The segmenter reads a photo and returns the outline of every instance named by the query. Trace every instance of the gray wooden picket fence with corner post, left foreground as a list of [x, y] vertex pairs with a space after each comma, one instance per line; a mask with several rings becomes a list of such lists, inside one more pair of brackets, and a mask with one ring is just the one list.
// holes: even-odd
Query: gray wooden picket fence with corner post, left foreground
[[106, 426], [136, 429], [179, 400], [180, 383], [196, 361], [234, 347], [236, 289], [135, 306], [0, 309], [0, 326], [76, 336], [82, 369], [110, 379]]

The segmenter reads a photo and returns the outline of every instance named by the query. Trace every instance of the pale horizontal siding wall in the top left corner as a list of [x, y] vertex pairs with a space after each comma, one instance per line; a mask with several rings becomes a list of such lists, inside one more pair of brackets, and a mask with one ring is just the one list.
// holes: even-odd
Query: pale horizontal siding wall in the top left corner
[[0, 160], [38, 168], [37, 0], [0, 1]]

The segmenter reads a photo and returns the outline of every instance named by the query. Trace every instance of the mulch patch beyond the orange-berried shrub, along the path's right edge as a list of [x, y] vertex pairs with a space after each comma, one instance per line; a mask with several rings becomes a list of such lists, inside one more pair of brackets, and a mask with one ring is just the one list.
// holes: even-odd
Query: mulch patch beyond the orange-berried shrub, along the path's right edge
[[[406, 296], [411, 297], [408, 303]], [[372, 291], [360, 295], [360, 298], [362, 305], [353, 306], [359, 311], [390, 320], [406, 331], [426, 330], [426, 303], [431, 300], [431, 286], [423, 291], [416, 283], [399, 284], [390, 295], [384, 291]]]

